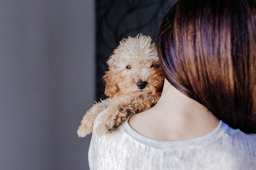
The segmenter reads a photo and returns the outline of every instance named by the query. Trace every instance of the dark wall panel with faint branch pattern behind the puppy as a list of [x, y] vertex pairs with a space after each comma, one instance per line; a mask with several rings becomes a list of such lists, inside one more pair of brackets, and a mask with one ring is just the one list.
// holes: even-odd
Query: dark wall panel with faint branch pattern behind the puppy
[[102, 81], [108, 70], [106, 61], [122, 38], [138, 33], [150, 35], [155, 41], [158, 26], [176, 0], [97, 0], [97, 100], [104, 99]]

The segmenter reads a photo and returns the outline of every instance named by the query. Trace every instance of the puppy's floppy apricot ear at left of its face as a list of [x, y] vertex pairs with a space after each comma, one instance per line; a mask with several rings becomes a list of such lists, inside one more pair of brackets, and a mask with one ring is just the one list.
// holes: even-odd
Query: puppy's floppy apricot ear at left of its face
[[103, 76], [103, 81], [106, 83], [105, 95], [109, 98], [113, 98], [114, 94], [118, 90], [116, 80], [114, 79], [114, 74], [112, 71], [106, 71], [106, 74]]

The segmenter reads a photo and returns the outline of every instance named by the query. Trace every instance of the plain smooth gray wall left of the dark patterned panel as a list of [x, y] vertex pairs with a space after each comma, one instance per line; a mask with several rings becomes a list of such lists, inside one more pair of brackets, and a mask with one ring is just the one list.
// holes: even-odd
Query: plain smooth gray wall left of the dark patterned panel
[[94, 1], [0, 0], [0, 169], [89, 169]]

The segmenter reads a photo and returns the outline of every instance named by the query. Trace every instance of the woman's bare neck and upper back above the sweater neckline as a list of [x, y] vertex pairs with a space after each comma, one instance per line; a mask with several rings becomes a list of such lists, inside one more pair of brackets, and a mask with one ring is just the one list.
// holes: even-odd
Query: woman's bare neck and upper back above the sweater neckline
[[129, 124], [146, 137], [182, 141], [210, 133], [218, 126], [219, 120], [203, 105], [165, 80], [158, 103], [149, 110], [131, 116]]

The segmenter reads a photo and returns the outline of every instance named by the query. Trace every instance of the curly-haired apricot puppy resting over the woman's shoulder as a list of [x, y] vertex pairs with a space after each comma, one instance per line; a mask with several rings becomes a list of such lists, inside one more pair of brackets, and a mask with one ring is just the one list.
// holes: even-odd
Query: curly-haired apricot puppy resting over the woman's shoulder
[[113, 131], [128, 115], [153, 107], [162, 91], [163, 75], [157, 50], [150, 36], [142, 34], [120, 41], [108, 60], [109, 71], [103, 76], [105, 94], [109, 97], [95, 103], [84, 115], [78, 128], [78, 136], [92, 133], [93, 123], [101, 116], [96, 133]]

